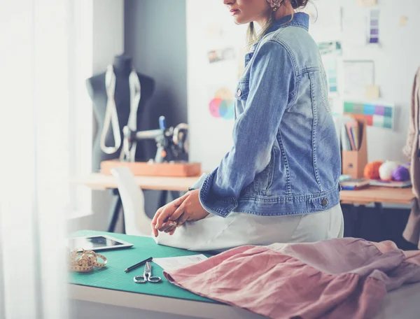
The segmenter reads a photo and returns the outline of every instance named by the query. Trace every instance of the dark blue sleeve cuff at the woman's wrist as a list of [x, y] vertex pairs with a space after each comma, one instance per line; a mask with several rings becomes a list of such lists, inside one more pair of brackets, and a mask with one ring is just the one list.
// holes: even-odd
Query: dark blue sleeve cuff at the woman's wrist
[[[217, 171], [217, 170], [216, 170]], [[235, 197], [218, 197], [214, 192], [211, 191], [216, 171], [213, 171], [204, 180], [202, 187], [200, 188], [200, 204], [203, 208], [213, 215], [226, 217], [238, 206], [238, 201]]]

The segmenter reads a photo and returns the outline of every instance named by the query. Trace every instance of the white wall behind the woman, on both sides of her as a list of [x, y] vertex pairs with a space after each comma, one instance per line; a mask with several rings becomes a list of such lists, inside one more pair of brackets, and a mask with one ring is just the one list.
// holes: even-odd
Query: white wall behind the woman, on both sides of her
[[[339, 31], [332, 34], [342, 41], [342, 59], [371, 59], [374, 60], [374, 78], [381, 90], [381, 99], [392, 101], [397, 106], [395, 129], [381, 129], [368, 127], [368, 160], [400, 160], [407, 161], [402, 155], [401, 149], [405, 144], [407, 126], [409, 120], [409, 106], [411, 99], [412, 82], [414, 73], [420, 66], [420, 42], [417, 33], [420, 29], [420, 20], [416, 13], [420, 12], [420, 1], [402, 0], [394, 1], [379, 0], [380, 20], [379, 38], [381, 45], [366, 46], [353, 45], [356, 37], [365, 34], [365, 17], [367, 9], [360, 8], [356, 0], [315, 0], [312, 1], [318, 8], [318, 20], [311, 24], [311, 33], [316, 39], [325, 41], [325, 34], [319, 32], [318, 26], [325, 26], [323, 31], [331, 32], [334, 27], [335, 17], [339, 17], [340, 11], [333, 10], [342, 6], [343, 27], [345, 32]], [[188, 115], [190, 121], [191, 158], [204, 164], [204, 169], [212, 169], [218, 165], [221, 157], [230, 149], [232, 121], [214, 118], [209, 113], [209, 101], [211, 95], [211, 78], [214, 77], [215, 66], [211, 66], [207, 59], [207, 50], [211, 48], [211, 40], [208, 36], [208, 28], [230, 25], [227, 30], [238, 30], [225, 6], [221, 1], [209, 1], [207, 3], [207, 15], [197, 15], [202, 4], [197, 0], [187, 0], [187, 24], [188, 24]], [[399, 25], [400, 17], [407, 16], [408, 22], [404, 27]], [[230, 19], [227, 22], [226, 19]], [[227, 24], [229, 23], [230, 24]], [[322, 28], [321, 28], [322, 29]], [[241, 45], [243, 34], [225, 35], [232, 41], [231, 45]], [[235, 63], [241, 62], [242, 56], [237, 57], [236, 62], [226, 64], [220, 74], [220, 82], [226, 83], [225, 78]], [[225, 62], [218, 62], [225, 63]], [[204, 80], [203, 80], [204, 79]], [[228, 81], [231, 81], [230, 78]], [[228, 87], [235, 87], [235, 83], [229, 83]], [[235, 92], [235, 89], [232, 90]], [[215, 141], [217, 141], [215, 143]]]

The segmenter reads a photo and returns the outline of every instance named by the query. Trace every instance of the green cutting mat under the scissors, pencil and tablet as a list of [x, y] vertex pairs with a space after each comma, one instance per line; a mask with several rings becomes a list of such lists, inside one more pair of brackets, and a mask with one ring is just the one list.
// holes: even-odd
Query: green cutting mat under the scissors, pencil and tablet
[[[188, 299], [197, 302], [218, 303], [214, 300], [195, 295], [192, 292], [188, 292], [187, 290], [183, 290], [182, 288], [169, 283], [165, 276], [163, 276], [163, 270], [160, 266], [158, 266], [158, 264], [152, 264], [152, 274], [153, 276], [160, 276], [162, 278], [161, 283], [134, 283], [133, 277], [142, 276], [144, 266], [134, 269], [129, 273], [125, 273], [124, 271], [127, 267], [137, 264], [137, 262], [145, 260], [148, 257], [179, 257], [197, 255], [200, 253], [179, 248], [160, 246], [155, 243], [152, 238], [148, 237], [94, 232], [92, 230], [81, 230], [72, 234], [72, 236], [90, 236], [99, 234], [108, 234], [109, 236], [113, 236], [117, 239], [128, 241], [129, 243], [134, 244], [134, 246], [132, 248], [123, 248], [118, 250], [98, 251], [98, 253], [104, 255], [108, 259], [106, 267], [95, 268], [90, 273], [71, 272], [69, 274], [70, 283], [111, 290], [138, 292], [146, 295]], [[209, 254], [204, 255], [207, 255], [207, 257], [210, 256]]]

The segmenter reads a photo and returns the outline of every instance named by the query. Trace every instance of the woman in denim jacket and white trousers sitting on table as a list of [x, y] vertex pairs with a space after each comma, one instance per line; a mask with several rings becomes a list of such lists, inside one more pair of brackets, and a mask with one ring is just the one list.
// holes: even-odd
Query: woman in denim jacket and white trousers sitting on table
[[343, 235], [325, 71], [309, 16], [295, 13], [307, 2], [223, 1], [237, 24], [249, 23], [253, 41], [237, 85], [234, 146], [215, 171], [156, 212], [158, 243], [223, 250]]

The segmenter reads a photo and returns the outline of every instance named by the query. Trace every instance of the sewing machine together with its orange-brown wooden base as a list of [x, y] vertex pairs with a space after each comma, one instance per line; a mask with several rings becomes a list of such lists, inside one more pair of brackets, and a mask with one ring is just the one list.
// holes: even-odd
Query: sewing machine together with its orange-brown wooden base
[[[164, 116], [159, 118], [159, 129], [136, 131], [129, 125], [123, 128], [123, 147], [119, 160], [101, 162], [101, 172], [111, 175], [111, 169], [128, 166], [135, 176], [199, 176], [200, 163], [186, 162], [188, 155], [188, 125], [181, 123], [167, 127]], [[135, 162], [137, 142], [152, 139], [158, 150], [154, 159]]]

